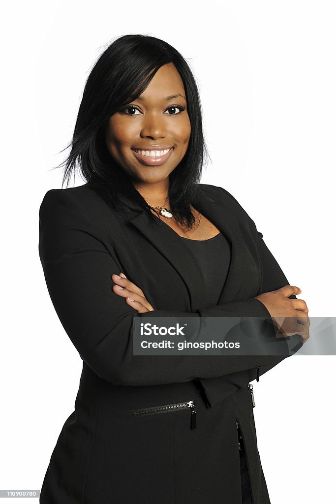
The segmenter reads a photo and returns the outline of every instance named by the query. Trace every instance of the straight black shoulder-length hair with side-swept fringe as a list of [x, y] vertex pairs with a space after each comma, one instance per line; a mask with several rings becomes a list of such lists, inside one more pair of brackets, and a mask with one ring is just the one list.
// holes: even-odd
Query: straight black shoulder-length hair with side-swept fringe
[[182, 79], [191, 124], [188, 149], [169, 176], [168, 198], [176, 220], [191, 228], [195, 219], [190, 205], [209, 154], [195, 79], [183, 56], [161, 39], [124, 35], [115, 39], [99, 56], [85, 84], [72, 141], [65, 147], [71, 147], [71, 152], [56, 168], [65, 165], [62, 187], [65, 180], [69, 184], [72, 173], [76, 176], [78, 165], [88, 185], [112, 208], [122, 215], [145, 209], [158, 221], [126, 172], [112, 158], [105, 130], [110, 116], [137, 99], [159, 68], [168, 63], [174, 64]]

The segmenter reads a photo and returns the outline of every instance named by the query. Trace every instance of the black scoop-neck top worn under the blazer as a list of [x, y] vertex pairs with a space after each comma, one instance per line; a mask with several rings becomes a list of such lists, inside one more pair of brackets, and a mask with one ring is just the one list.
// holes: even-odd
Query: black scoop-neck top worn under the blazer
[[221, 232], [207, 240], [193, 240], [184, 236], [180, 238], [188, 244], [204, 276], [206, 292], [200, 308], [217, 305], [229, 271], [230, 243]]

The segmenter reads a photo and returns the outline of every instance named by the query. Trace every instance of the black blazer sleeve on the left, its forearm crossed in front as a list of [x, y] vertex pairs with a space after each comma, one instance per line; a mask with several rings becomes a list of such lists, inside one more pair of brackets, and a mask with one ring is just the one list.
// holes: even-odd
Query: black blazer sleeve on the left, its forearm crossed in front
[[[118, 266], [84, 205], [69, 191], [48, 191], [39, 211], [39, 256], [57, 316], [81, 358], [116, 385], [182, 383], [253, 368], [260, 357], [133, 355], [134, 317], [213, 316], [211, 308], [184, 313], [138, 313], [112, 291]], [[267, 282], [267, 268], [265, 282]], [[275, 266], [273, 266], [275, 267]], [[140, 286], [141, 287], [141, 286]], [[217, 310], [215, 316], [219, 316]], [[257, 299], [223, 304], [220, 316], [270, 318]], [[273, 362], [275, 357], [268, 357]]]

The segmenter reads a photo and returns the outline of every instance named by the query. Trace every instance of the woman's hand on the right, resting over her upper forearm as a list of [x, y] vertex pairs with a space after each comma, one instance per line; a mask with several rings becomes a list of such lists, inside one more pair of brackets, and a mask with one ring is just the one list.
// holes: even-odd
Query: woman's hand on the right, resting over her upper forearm
[[255, 296], [270, 312], [277, 338], [300, 334], [301, 343], [305, 343], [309, 338], [310, 320], [306, 302], [303, 299], [288, 298], [300, 293], [299, 287], [285, 285], [281, 289]]

